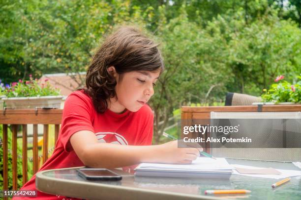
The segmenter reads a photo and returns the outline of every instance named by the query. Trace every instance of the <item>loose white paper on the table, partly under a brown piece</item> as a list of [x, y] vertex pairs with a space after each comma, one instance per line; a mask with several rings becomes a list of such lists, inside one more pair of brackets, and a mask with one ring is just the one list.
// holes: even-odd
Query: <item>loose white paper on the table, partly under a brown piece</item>
[[[244, 169], [264, 169], [260, 167], [253, 167], [253, 166], [246, 166], [246, 165], [232, 165], [234, 168], [244, 168]], [[291, 176], [300, 176], [301, 171], [297, 170], [280, 170], [276, 169], [281, 173], [281, 175], [259, 175], [259, 174], [241, 174], [237, 170], [233, 170], [234, 175], [246, 175], [246, 176], [253, 176], [253, 177], [261, 177], [261, 178], [274, 178], [274, 179], [280, 179], [280, 178], [287, 178]]]

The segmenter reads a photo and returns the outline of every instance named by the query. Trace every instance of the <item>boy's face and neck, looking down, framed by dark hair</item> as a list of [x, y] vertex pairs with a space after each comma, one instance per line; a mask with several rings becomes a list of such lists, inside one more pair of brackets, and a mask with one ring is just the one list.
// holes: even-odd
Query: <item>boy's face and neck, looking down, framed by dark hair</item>
[[115, 113], [122, 113], [125, 108], [132, 112], [138, 111], [154, 94], [153, 86], [159, 75], [159, 71], [134, 71], [123, 74], [120, 79], [120, 75], [115, 73], [118, 100], [111, 99], [109, 109]]

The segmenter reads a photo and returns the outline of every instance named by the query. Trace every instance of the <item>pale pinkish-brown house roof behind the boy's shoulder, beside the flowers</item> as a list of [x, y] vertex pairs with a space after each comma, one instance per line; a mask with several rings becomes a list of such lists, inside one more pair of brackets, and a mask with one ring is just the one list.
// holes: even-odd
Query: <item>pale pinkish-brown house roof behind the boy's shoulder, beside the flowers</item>
[[68, 96], [85, 84], [86, 72], [46, 74], [40, 78], [41, 81], [46, 79], [52, 86], [60, 89], [61, 95]]

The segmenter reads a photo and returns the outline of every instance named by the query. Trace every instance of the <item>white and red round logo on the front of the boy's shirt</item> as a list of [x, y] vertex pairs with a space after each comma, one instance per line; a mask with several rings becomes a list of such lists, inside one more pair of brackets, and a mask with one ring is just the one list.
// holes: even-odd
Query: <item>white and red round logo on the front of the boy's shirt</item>
[[96, 135], [96, 138], [97, 138], [98, 142], [100, 142], [100, 143], [112, 143], [112, 144], [118, 144], [118, 145], [128, 145], [128, 142], [125, 140], [125, 138], [122, 135], [118, 134], [118, 133], [98, 132], [98, 133], [95, 133], [95, 135]]

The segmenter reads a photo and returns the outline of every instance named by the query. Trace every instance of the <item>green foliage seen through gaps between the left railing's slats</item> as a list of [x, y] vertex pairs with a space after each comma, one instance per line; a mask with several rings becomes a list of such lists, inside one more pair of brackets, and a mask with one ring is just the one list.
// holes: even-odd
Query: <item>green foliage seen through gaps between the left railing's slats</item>
[[[2, 134], [2, 125], [0, 125], [0, 139], [3, 140], [3, 134]], [[12, 150], [12, 132], [8, 128], [8, 133], [7, 133], [7, 138], [8, 138], [8, 149]], [[22, 155], [22, 144], [17, 143], [17, 154]], [[3, 189], [3, 148], [0, 148], [0, 190]], [[32, 163], [28, 162], [28, 177], [32, 176]], [[18, 188], [21, 188], [23, 183], [22, 183], [22, 157], [20, 158], [17, 156], [17, 183], [18, 183]], [[12, 153], [8, 152], [8, 190], [12, 190]]]

